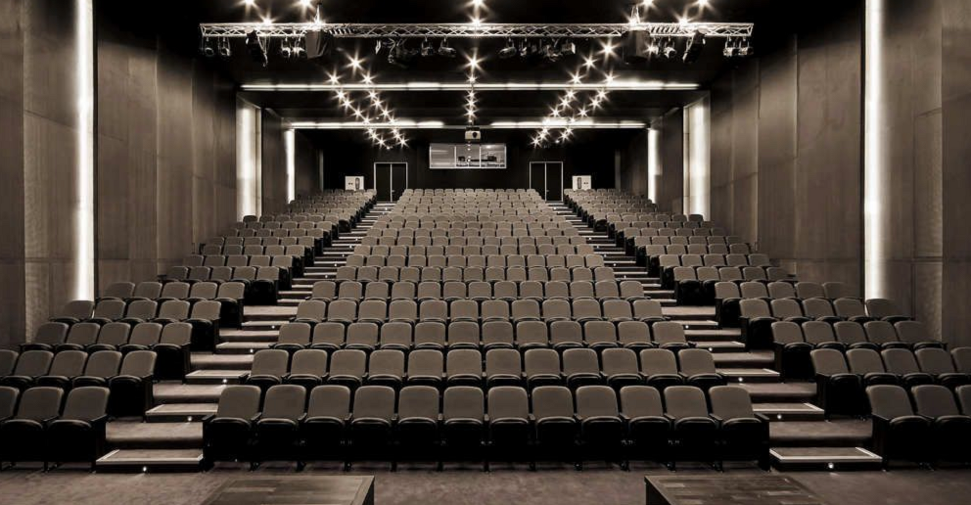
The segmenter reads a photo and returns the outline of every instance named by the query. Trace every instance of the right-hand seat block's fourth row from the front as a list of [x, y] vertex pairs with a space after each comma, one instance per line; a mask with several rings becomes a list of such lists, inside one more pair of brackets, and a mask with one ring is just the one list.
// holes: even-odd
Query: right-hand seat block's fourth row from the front
[[[926, 337], [924, 326], [908, 317], [901, 315], [895, 309], [895, 304], [884, 298], [868, 300], [873, 312], [868, 312], [867, 304], [859, 298], [837, 298], [830, 302], [825, 298], [809, 298], [799, 303], [792, 298], [766, 301], [762, 298], [743, 298], [738, 302], [739, 325], [742, 327], [742, 340], [750, 349], [772, 348], [772, 323], [779, 320], [806, 323], [811, 321], [836, 323], [842, 320], [865, 323], [871, 320], [885, 320], [894, 322], [901, 333], [900, 340], [917, 342], [912, 334], [905, 332], [920, 332], [920, 342], [932, 339]], [[722, 308], [725, 304], [722, 304]], [[894, 315], [887, 313], [897, 312]], [[815, 327], [815, 326], [814, 326]], [[821, 328], [821, 326], [820, 326]], [[820, 329], [821, 331], [821, 329]]]

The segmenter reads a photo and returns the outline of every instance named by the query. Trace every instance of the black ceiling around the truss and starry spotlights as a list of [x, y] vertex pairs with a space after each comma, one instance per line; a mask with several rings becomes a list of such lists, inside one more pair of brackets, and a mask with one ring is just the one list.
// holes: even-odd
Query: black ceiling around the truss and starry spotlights
[[[688, 16], [705, 21], [753, 22], [753, 46], [756, 51], [776, 44], [781, 34], [791, 27], [780, 27], [780, 19], [789, 19], [793, 6], [812, 6], [812, 12], [825, 10], [843, 0], [710, 0], [709, 7], [699, 13], [696, 0], [655, 0], [646, 18], [655, 21], [676, 21]], [[242, 0], [193, 0], [177, 2], [179, 9], [164, 9], [152, 17], [160, 26], [163, 38], [173, 41], [179, 50], [194, 51], [198, 45], [199, 22], [259, 21], [273, 17], [275, 21], [309, 20], [311, 13], [297, 0], [256, 0], [247, 7]], [[145, 19], [144, 4], [111, 2], [121, 16]], [[489, 22], [624, 22], [629, 14], [629, 0], [485, 0], [481, 17]], [[137, 11], [137, 12], [136, 12]], [[473, 13], [471, 1], [463, 0], [324, 0], [322, 17], [326, 22], [467, 22]], [[642, 11], [642, 15], [645, 13]], [[438, 41], [433, 41], [437, 44]], [[554, 64], [525, 61], [519, 57], [499, 59], [496, 55], [505, 43], [501, 40], [452, 40], [452, 47], [461, 53], [477, 52], [484, 58], [480, 82], [539, 82], [567, 84], [569, 74], [577, 71], [581, 55], [599, 50], [599, 41], [577, 40], [580, 55], [564, 58]], [[416, 45], [419, 41], [413, 41]], [[615, 41], [619, 43], [619, 41]], [[360, 82], [360, 74], [352, 75], [348, 60], [352, 55], [363, 57], [365, 69], [375, 83], [445, 82], [463, 83], [466, 79], [464, 57], [454, 59], [432, 56], [417, 58], [414, 65], [401, 69], [386, 61], [386, 53], [375, 55], [374, 41], [339, 40], [337, 50], [326, 59], [289, 61], [280, 57], [279, 48], [271, 48], [269, 65], [262, 67], [251, 61], [240, 40], [234, 41], [234, 55], [228, 59], [214, 58], [211, 63], [237, 84], [324, 84], [327, 75], [337, 73], [342, 82]], [[716, 76], [732, 65], [736, 58], [721, 55], [721, 43], [709, 41], [701, 57], [693, 64], [685, 64], [680, 57], [670, 61], [628, 66], [615, 56], [611, 61], [598, 59], [597, 71], [590, 73], [588, 82], [601, 82], [604, 72], [613, 73], [618, 80], [661, 81], [666, 83], [697, 84], [702, 91], [614, 91], [605, 107], [596, 113], [598, 120], [629, 119], [648, 121], [697, 99]], [[361, 93], [358, 93], [358, 95]], [[478, 122], [494, 120], [539, 120], [547, 116], [555, 103], [555, 91], [489, 91], [479, 93]], [[251, 91], [245, 98], [260, 106], [274, 109], [285, 118], [324, 118], [350, 120], [338, 107], [333, 93], [326, 91]], [[382, 98], [394, 110], [397, 118], [442, 120], [446, 123], [464, 122], [464, 94], [459, 91], [385, 91]]]

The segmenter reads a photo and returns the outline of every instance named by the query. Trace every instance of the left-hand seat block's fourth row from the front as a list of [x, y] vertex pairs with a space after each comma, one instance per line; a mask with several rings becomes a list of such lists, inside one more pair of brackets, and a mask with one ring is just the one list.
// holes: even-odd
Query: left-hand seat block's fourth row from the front
[[[167, 299], [158, 303], [154, 300], [138, 299], [126, 303], [117, 298], [108, 298], [100, 300], [93, 313], [84, 310], [89, 307], [89, 303], [87, 300], [68, 302], [64, 308], [65, 316], [55, 317], [50, 323], [41, 326], [45, 330], [44, 338], [56, 340], [65, 337], [67, 341], [87, 346], [97, 343], [105, 332], [115, 334], [110, 339], [114, 342], [120, 336], [127, 335], [130, 327], [140, 322], [151, 321], [162, 325], [186, 322], [191, 327], [192, 349], [216, 349], [222, 313], [222, 303], [218, 300], [190, 303], [187, 300]], [[112, 324], [113, 322], [118, 324]]]

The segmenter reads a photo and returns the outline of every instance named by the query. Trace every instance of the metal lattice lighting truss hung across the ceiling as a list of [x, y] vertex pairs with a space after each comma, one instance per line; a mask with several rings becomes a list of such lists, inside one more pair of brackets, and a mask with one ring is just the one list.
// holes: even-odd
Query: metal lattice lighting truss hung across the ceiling
[[745, 22], [623, 22], [623, 23], [201, 23], [203, 37], [286, 38], [319, 31], [338, 39], [601, 39], [643, 31], [655, 37], [751, 37], [753, 23]]

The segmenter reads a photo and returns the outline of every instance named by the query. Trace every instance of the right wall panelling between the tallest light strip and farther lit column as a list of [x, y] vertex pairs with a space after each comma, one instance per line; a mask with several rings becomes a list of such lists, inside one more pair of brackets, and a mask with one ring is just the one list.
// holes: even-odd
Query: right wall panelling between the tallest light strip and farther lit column
[[712, 219], [809, 281], [860, 283], [861, 11], [712, 85]]

